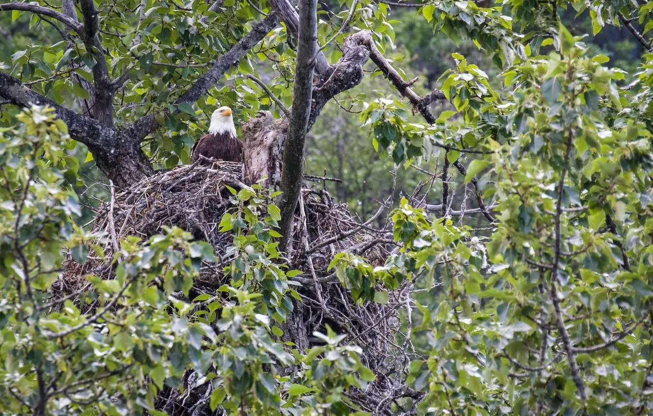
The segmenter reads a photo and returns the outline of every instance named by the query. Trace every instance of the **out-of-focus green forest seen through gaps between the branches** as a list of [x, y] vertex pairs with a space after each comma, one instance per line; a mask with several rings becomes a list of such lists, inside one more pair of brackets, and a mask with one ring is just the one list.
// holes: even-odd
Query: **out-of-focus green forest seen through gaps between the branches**
[[[486, 5], [485, 7], [489, 7]], [[329, 14], [340, 12], [346, 9], [346, 5], [340, 5], [338, 0], [324, 0], [319, 2], [318, 17], [328, 18]], [[461, 40], [454, 44], [451, 38], [445, 33], [433, 33], [430, 23], [423, 18], [416, 18], [419, 13], [413, 9], [393, 9], [389, 18], [394, 27], [396, 38], [392, 42], [394, 51], [389, 51], [388, 57], [400, 62], [406, 79], [419, 76], [419, 82], [415, 85], [417, 93], [424, 95], [436, 87], [441, 86], [438, 78], [448, 68], [454, 67], [454, 59], [451, 53], [458, 52], [468, 59], [469, 63], [475, 63], [484, 68], [490, 77], [492, 87], [501, 90], [502, 85], [496, 79], [500, 68], [492, 63], [492, 59], [485, 52], [479, 50], [469, 39]], [[509, 13], [508, 13], [509, 14]], [[626, 27], [620, 29], [607, 25], [596, 36], [592, 36], [592, 22], [588, 14], [582, 14], [579, 18], [575, 16], [575, 10], [564, 10], [560, 8], [558, 14], [562, 23], [569, 29], [572, 35], [586, 35], [585, 41], [590, 50], [588, 55], [603, 54], [610, 58], [611, 65], [622, 68], [626, 74], [624, 84], [629, 83], [640, 65], [640, 57], [643, 47]], [[58, 37], [56, 31], [48, 23], [40, 21], [30, 29], [29, 14], [24, 14], [16, 22], [12, 22], [10, 13], [0, 14], [0, 61], [5, 61], [14, 53], [22, 50], [29, 50], [28, 45], [52, 43], [52, 39]], [[637, 22], [633, 22], [639, 28]], [[48, 42], [49, 41], [49, 42]], [[414, 51], [414, 52], [409, 52]], [[373, 64], [368, 63], [369, 70]], [[263, 80], [266, 67], [272, 67], [270, 63], [257, 63], [257, 72]], [[396, 91], [383, 79], [381, 72], [374, 72], [371, 77], [364, 78], [357, 87], [344, 95], [338, 96], [341, 102], [332, 100], [323, 115], [319, 117], [307, 137], [306, 145], [306, 172], [311, 175], [327, 175], [342, 179], [342, 183], [326, 183], [328, 190], [338, 201], [349, 203], [350, 209], [360, 216], [369, 216], [377, 210], [377, 201], [383, 200], [389, 194], [394, 195], [396, 203], [401, 198], [400, 191], [410, 190], [424, 180], [424, 174], [413, 168], [396, 167], [390, 158], [381, 158], [372, 147], [370, 128], [361, 128], [360, 106], [349, 108], [348, 98], [360, 98], [358, 102], [371, 102], [377, 98], [396, 99]], [[246, 104], [243, 104], [246, 105]], [[449, 102], [441, 102], [438, 106], [451, 106]], [[451, 106], [453, 109], [453, 106]], [[439, 113], [441, 108], [434, 108], [434, 113]], [[444, 109], [446, 110], [446, 109]], [[419, 119], [415, 117], [415, 120]], [[0, 125], [8, 126], [10, 118], [3, 113], [0, 106]], [[236, 125], [242, 123], [236, 119]], [[195, 138], [194, 138], [195, 139]], [[190, 147], [192, 143], [184, 143]], [[108, 188], [103, 185], [102, 173], [95, 168], [91, 158], [87, 158], [86, 146], [78, 143], [74, 154], [78, 157], [78, 174], [86, 178], [80, 181], [71, 175], [71, 180], [76, 181], [77, 193], [86, 208], [86, 215], [82, 221], [86, 222], [93, 218], [92, 208], [108, 196]], [[172, 157], [172, 162], [189, 163], [186, 160], [178, 162], [178, 158]], [[433, 158], [430, 160], [435, 168], [440, 161]], [[168, 166], [169, 168], [170, 166]], [[428, 164], [422, 164], [426, 169]], [[456, 176], [462, 183], [462, 177]], [[456, 184], [457, 185], [457, 184]], [[316, 185], [318, 186], [318, 185]], [[323, 186], [323, 185], [319, 185]], [[396, 190], [396, 192], [393, 192]], [[464, 187], [454, 186], [453, 205], [460, 205], [464, 198]], [[437, 199], [439, 189], [432, 190], [434, 199]]]

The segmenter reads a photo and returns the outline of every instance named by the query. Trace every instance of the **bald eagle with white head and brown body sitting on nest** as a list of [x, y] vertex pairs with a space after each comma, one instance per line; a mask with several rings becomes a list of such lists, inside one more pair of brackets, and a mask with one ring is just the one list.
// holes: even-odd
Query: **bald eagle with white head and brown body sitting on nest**
[[[243, 143], [236, 137], [236, 126], [231, 115], [231, 108], [220, 107], [211, 116], [208, 134], [200, 137], [193, 145], [191, 162], [195, 163], [201, 156], [225, 160], [242, 161]], [[205, 164], [206, 160], [200, 160]]]

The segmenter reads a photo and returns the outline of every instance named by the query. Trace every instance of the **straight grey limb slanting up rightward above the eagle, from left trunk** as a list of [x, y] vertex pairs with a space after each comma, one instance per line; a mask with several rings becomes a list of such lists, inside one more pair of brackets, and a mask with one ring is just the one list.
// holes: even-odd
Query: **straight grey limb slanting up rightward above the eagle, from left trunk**
[[[215, 3], [214, 3], [215, 4]], [[268, 17], [261, 20], [251, 31], [247, 33], [242, 39], [221, 57], [219, 57], [214, 65], [204, 73], [185, 93], [179, 97], [174, 104], [182, 104], [183, 102], [194, 103], [199, 100], [208, 90], [218, 82], [220, 78], [227, 72], [229, 68], [238, 64], [238, 61], [242, 59], [247, 52], [255, 46], [255, 44], [261, 42], [261, 40], [268, 34], [276, 25], [279, 23], [279, 18], [276, 13], [272, 12], [268, 14]], [[144, 138], [148, 136], [151, 132], [156, 130], [159, 127], [154, 119], [154, 115], [147, 115], [142, 117], [135, 123], [132, 123], [127, 127], [127, 130], [131, 131], [135, 140], [139, 143]]]

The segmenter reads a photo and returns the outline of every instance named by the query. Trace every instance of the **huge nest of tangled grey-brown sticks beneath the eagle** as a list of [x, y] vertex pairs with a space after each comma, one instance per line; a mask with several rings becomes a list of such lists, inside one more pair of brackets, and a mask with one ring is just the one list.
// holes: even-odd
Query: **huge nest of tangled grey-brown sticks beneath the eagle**
[[[93, 231], [106, 231], [118, 240], [127, 235], [148, 239], [161, 232], [163, 226], [178, 226], [195, 239], [210, 243], [216, 256], [221, 258], [232, 241], [231, 233], [218, 231], [223, 213], [234, 206], [227, 186], [236, 190], [246, 186], [242, 164], [215, 162], [211, 166], [180, 166], [156, 173], [104, 203], [97, 212]], [[293, 278], [302, 283], [298, 293], [304, 302], [296, 303], [295, 311], [285, 323], [284, 338], [287, 339], [284, 340], [293, 341], [296, 348], [302, 350], [319, 342], [312, 334], [325, 332], [326, 325], [347, 334], [351, 342], [362, 347], [361, 361], [377, 375], [366, 391], [349, 393], [352, 402], [364, 411], [389, 411], [396, 398], [417, 394], [400, 381], [402, 377], [390, 376], [402, 371], [409, 362], [406, 346], [397, 345], [404, 342], [403, 339], [396, 340], [400, 326], [398, 310], [407, 305], [409, 285], [390, 293], [387, 305], [357, 305], [351, 299], [334, 273], [327, 270], [328, 263], [338, 252], [349, 251], [364, 256], [372, 265], [383, 264], [389, 256], [385, 248], [387, 239], [383, 239], [386, 231], [374, 230], [367, 223], [360, 224], [346, 204], [334, 203], [328, 192], [317, 186], [302, 189], [295, 215], [287, 258], [304, 271]], [[112, 254], [112, 243], [106, 243], [104, 249]], [[84, 277], [88, 274], [112, 278], [112, 270], [92, 256], [83, 265], [72, 262], [56, 282], [52, 295], [58, 298], [83, 290], [89, 285]], [[229, 277], [223, 275], [220, 267], [206, 265], [195, 279], [193, 291], [215, 293], [225, 283], [229, 283]], [[93, 307], [97, 305], [84, 305], [82, 310]], [[210, 385], [192, 389], [191, 373], [188, 371], [185, 377], [184, 404], [180, 402], [182, 397], [178, 391], [168, 389], [159, 394], [157, 408], [170, 415], [216, 414], [210, 411], [206, 400], [210, 396]]]

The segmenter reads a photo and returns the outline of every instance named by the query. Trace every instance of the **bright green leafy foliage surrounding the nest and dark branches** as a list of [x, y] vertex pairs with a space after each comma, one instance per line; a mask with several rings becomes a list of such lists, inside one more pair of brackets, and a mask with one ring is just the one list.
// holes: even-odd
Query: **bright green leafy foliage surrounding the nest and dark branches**
[[[341, 25], [370, 29], [392, 65], [430, 59], [425, 27], [464, 44], [447, 51], [448, 69], [436, 71], [437, 82], [430, 74], [445, 97], [435, 123], [420, 121], [423, 108], [390, 97], [390, 87], [372, 78], [323, 114], [308, 164], [313, 173], [329, 165], [340, 175], [356, 159], [349, 170], [362, 186], [338, 185], [343, 200], [369, 204], [379, 190], [401, 194], [387, 224], [373, 230], [376, 243], [391, 250], [385, 263], [334, 252], [327, 260], [334, 278], [325, 283], [344, 288], [354, 318], [367, 313], [365, 305], [387, 307], [383, 314], [402, 309], [394, 340], [402, 358], [373, 351], [391, 370], [372, 372], [357, 333], [326, 308], [319, 318], [326, 317], [325, 331], [313, 334], [310, 348], [298, 349], [286, 333], [307, 299], [293, 278], [308, 262], [289, 265], [278, 251], [274, 189], [233, 190], [232, 209], [218, 224], [233, 235], [222, 258], [178, 228], [147, 241], [123, 239], [107, 258], [99, 243], [110, 236], [78, 225], [83, 200], [75, 190], [89, 171], [97, 177], [88, 165], [93, 156], [50, 110], [33, 106], [0, 115], [5, 126], [17, 126], [0, 134], [1, 411], [163, 415], [157, 395], [181, 391], [192, 374], [192, 387], [206, 387], [208, 409], [229, 415], [362, 413], [353, 392], [369, 394], [372, 413], [653, 412], [653, 54], [631, 59], [628, 71], [610, 67], [609, 53], [595, 53], [590, 39], [560, 24], [577, 13], [595, 36], [608, 25], [630, 25], [649, 50], [652, 3], [429, 1], [414, 7], [416, 16], [401, 15], [419, 22], [418, 40], [395, 36], [402, 23], [392, 20], [389, 3], [329, 3], [334, 10], [320, 11], [318, 42], [328, 42], [334, 63], [347, 37]], [[247, 75], [292, 104], [296, 52], [285, 27], [197, 103], [170, 104], [272, 11], [268, 3], [227, 0], [210, 11], [200, 0], [130, 0], [97, 8], [110, 76], [123, 81], [112, 103], [116, 124], [155, 115], [164, 128], [143, 147], [165, 166], [188, 161], [218, 105], [234, 108], [240, 120], [257, 110], [281, 116]], [[11, 20], [44, 24], [17, 10]], [[1, 69], [83, 109], [98, 51], [52, 33], [64, 40], [20, 38]], [[405, 44], [393, 53], [398, 40]], [[430, 52], [402, 61], [399, 54], [412, 53], [415, 43]], [[471, 53], [472, 46], [481, 52]], [[353, 126], [357, 115], [347, 115], [340, 132], [342, 108], [360, 109], [362, 128]], [[367, 143], [358, 140], [366, 135]], [[428, 175], [423, 183], [396, 177], [411, 166]], [[376, 175], [393, 168], [393, 180], [380, 183]], [[379, 183], [367, 188], [374, 179]], [[478, 208], [470, 209], [474, 199]], [[79, 297], [53, 296], [71, 260], [89, 258], [115, 277], [91, 271]], [[202, 265], [224, 271], [229, 282], [190, 299]], [[394, 395], [375, 398], [375, 385]]]

